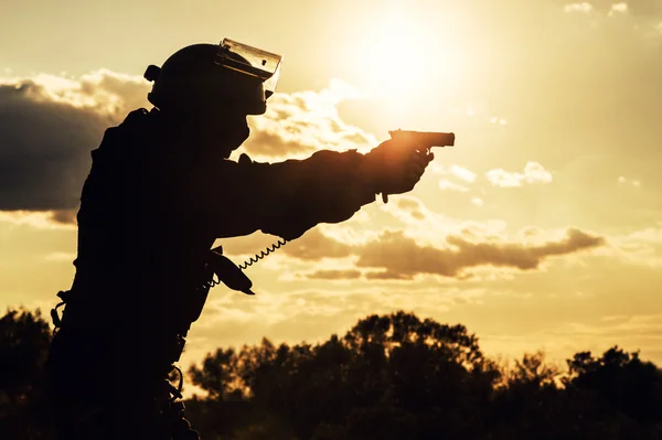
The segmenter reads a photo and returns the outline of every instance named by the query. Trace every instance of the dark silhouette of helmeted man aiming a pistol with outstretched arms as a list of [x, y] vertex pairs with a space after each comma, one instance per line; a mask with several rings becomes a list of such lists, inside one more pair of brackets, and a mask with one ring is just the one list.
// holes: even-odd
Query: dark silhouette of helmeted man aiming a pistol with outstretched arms
[[92, 152], [49, 359], [63, 439], [196, 439], [166, 378], [206, 300], [214, 242], [343, 222], [377, 193], [410, 191], [433, 159], [389, 140], [366, 154], [231, 161], [279, 63], [227, 40], [184, 47], [146, 72], [154, 108], [131, 111]]

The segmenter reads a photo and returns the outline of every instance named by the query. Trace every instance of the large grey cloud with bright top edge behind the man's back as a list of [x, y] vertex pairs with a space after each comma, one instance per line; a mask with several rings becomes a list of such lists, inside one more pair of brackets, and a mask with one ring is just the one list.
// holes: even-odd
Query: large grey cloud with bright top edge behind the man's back
[[73, 221], [89, 152], [146, 92], [140, 79], [108, 71], [0, 79], [0, 211]]

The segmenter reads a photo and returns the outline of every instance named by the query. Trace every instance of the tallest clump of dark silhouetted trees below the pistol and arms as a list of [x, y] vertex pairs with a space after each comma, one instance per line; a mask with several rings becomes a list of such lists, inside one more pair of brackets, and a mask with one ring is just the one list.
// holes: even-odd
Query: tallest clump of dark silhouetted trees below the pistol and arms
[[[229, 365], [237, 374], [224, 373]], [[383, 439], [412, 430], [450, 438], [461, 416], [459, 438], [481, 425], [476, 409], [499, 377], [465, 326], [404, 312], [367, 316], [342, 339], [314, 346], [264, 340], [238, 354], [217, 351], [191, 372], [212, 400], [231, 384], [248, 389], [254, 410], [286, 422], [299, 439], [362, 438], [380, 429]]]

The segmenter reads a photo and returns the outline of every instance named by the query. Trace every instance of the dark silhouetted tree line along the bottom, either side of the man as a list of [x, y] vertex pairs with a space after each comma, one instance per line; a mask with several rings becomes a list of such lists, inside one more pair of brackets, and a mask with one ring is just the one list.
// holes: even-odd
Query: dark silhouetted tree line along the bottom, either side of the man
[[[40, 311], [0, 319], [0, 438], [52, 439]], [[662, 371], [613, 346], [564, 368], [485, 356], [466, 326], [399, 311], [308, 344], [220, 347], [188, 371], [203, 440], [662, 439]]]

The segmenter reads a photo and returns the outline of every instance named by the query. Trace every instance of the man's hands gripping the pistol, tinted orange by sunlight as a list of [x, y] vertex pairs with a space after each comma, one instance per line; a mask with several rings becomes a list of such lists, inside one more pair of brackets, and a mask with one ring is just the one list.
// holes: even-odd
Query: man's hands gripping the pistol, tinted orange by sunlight
[[435, 155], [423, 146], [387, 140], [365, 154], [375, 193], [402, 194], [414, 189]]

